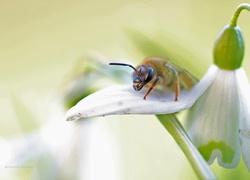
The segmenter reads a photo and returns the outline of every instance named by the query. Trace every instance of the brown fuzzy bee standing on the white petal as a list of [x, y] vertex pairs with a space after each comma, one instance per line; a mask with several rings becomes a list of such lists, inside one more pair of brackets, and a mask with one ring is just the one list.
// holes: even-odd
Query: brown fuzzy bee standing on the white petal
[[133, 88], [140, 91], [144, 86], [149, 86], [143, 99], [146, 100], [149, 93], [159, 85], [175, 92], [175, 101], [181, 89], [192, 88], [199, 80], [187, 70], [172, 64], [168, 59], [148, 57], [138, 67], [125, 63], [109, 63], [109, 65], [128, 66], [134, 70], [132, 74]]

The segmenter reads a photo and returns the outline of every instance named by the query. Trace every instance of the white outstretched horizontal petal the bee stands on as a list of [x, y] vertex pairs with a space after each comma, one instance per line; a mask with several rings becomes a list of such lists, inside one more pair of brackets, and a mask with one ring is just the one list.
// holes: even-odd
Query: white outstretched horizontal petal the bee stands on
[[115, 85], [102, 89], [81, 100], [66, 114], [67, 120], [111, 114], [169, 114], [190, 108], [208, 88], [217, 67], [212, 65], [206, 75], [191, 90], [183, 90], [178, 101], [173, 92], [153, 91], [143, 99], [144, 88], [136, 92], [129, 85]]

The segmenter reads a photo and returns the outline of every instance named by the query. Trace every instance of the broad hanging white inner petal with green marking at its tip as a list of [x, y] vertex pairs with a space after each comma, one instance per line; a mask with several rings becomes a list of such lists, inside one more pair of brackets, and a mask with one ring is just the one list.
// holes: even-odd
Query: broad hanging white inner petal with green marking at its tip
[[208, 90], [187, 116], [190, 138], [209, 164], [234, 168], [240, 160], [236, 71], [218, 70]]

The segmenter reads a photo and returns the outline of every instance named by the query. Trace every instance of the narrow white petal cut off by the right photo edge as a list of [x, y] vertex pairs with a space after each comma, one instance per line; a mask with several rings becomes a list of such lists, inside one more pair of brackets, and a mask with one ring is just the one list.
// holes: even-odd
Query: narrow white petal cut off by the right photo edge
[[239, 137], [243, 160], [250, 171], [250, 84], [241, 68], [237, 72], [240, 99]]

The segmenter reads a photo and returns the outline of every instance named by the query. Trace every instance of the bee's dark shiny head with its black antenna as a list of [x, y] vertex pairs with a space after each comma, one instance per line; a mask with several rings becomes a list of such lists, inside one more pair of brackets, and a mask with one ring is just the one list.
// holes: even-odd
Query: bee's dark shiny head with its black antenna
[[141, 65], [137, 68], [134, 68], [130, 64], [124, 63], [109, 63], [109, 65], [119, 65], [119, 66], [129, 66], [135, 71], [132, 74], [133, 77], [133, 88], [136, 91], [140, 91], [144, 85], [152, 80], [154, 76], [154, 69], [149, 65]]

